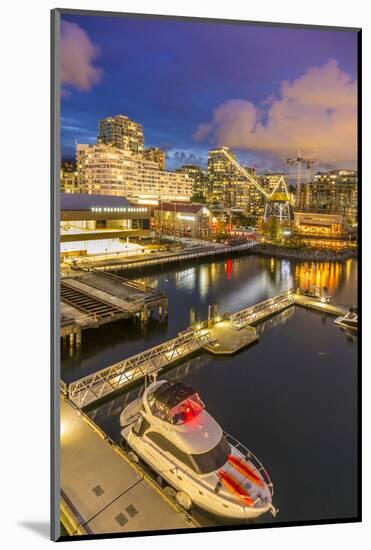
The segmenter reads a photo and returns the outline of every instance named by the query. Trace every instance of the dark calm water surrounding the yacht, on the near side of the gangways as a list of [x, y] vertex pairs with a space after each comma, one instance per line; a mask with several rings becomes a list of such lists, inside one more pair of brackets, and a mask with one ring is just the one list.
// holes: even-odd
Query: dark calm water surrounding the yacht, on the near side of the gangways
[[[233, 357], [204, 353], [160, 376], [193, 386], [223, 429], [261, 459], [280, 512], [258, 523], [353, 517], [356, 335], [336, 327], [332, 317], [300, 307], [257, 330], [260, 341]], [[120, 441], [121, 410], [142, 391], [137, 386], [89, 415]], [[200, 510], [196, 517], [207, 525], [224, 522]]]

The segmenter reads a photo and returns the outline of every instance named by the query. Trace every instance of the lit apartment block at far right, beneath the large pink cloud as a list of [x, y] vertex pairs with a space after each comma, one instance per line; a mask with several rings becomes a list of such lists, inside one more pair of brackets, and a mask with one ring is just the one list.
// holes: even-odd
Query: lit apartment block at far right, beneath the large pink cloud
[[350, 225], [358, 219], [358, 173], [353, 170], [319, 172], [301, 186], [299, 208], [341, 214]]

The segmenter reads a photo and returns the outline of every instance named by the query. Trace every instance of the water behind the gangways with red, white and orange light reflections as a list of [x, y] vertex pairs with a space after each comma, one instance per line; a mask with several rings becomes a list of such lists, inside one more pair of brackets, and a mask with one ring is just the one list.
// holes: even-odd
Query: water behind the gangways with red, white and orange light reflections
[[189, 325], [192, 307], [200, 319], [206, 319], [210, 304], [218, 304], [221, 313], [234, 312], [288, 288], [306, 289], [311, 285], [326, 286], [335, 301], [352, 305], [356, 300], [357, 261], [293, 262], [244, 256], [143, 273], [140, 279], [167, 293], [167, 321], [151, 319], [143, 327], [129, 320], [84, 332], [78, 353], [69, 355], [68, 346], [62, 349], [65, 381], [81, 378], [176, 336]]

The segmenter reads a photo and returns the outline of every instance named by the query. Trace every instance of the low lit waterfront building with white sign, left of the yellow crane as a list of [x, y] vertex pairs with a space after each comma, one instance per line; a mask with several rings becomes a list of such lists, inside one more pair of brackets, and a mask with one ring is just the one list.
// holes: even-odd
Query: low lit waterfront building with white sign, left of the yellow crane
[[164, 202], [153, 211], [153, 226], [160, 234], [204, 239], [212, 231], [212, 214], [202, 204]]

